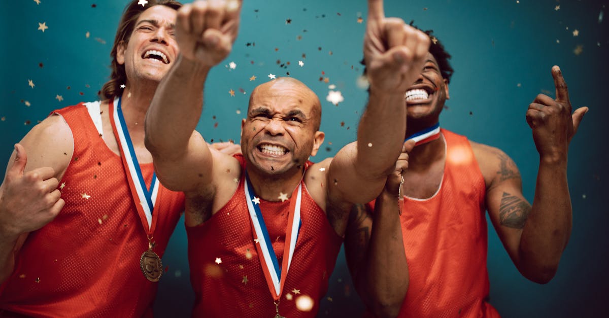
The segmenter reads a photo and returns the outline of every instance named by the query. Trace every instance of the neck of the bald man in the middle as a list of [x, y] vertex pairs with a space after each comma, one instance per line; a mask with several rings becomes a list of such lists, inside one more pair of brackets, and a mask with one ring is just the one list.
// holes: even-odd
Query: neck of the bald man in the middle
[[[289, 174], [289, 175], [288, 175]], [[303, 177], [303, 169], [282, 175], [269, 175], [256, 169], [248, 169], [247, 175], [252, 183], [256, 197], [267, 201], [280, 201], [280, 194], [285, 193], [287, 197], [292, 196], [292, 191], [298, 186]]]

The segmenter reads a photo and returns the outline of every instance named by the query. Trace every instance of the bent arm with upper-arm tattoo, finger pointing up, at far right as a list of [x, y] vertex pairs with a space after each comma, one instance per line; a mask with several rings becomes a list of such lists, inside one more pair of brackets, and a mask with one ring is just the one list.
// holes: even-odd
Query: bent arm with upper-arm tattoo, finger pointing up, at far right
[[540, 154], [532, 207], [523, 197], [518, 169], [500, 150], [496, 152], [496, 177], [487, 191], [488, 213], [505, 249], [519, 272], [536, 283], [547, 283], [554, 277], [571, 236], [567, 154], [571, 138], [588, 111], [582, 107], [572, 113], [558, 66], [552, 68], [552, 76], [556, 99], [540, 94], [527, 111]]

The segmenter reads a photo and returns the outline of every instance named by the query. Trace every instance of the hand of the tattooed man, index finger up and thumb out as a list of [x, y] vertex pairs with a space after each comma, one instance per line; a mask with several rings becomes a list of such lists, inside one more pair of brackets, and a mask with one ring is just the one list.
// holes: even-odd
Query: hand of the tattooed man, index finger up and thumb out
[[552, 77], [556, 88], [556, 99], [539, 94], [529, 105], [527, 123], [533, 130], [533, 141], [542, 159], [566, 159], [571, 138], [577, 132], [588, 107], [572, 107], [569, 91], [558, 66], [552, 67]]

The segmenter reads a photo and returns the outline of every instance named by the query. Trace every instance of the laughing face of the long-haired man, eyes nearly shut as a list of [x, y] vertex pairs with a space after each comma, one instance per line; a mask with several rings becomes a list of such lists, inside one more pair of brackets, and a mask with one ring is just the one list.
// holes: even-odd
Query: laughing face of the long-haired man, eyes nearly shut
[[116, 60], [125, 65], [127, 85], [140, 80], [160, 82], [178, 55], [174, 38], [176, 11], [155, 5], [139, 15], [128, 42], [121, 41]]

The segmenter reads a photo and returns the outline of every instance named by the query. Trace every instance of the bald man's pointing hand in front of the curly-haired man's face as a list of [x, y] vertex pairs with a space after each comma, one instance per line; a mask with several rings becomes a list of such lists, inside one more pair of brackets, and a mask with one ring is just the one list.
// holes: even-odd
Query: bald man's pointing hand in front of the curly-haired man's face
[[401, 93], [417, 80], [429, 36], [399, 18], [385, 18], [382, 0], [368, 0], [364, 60], [371, 90]]

